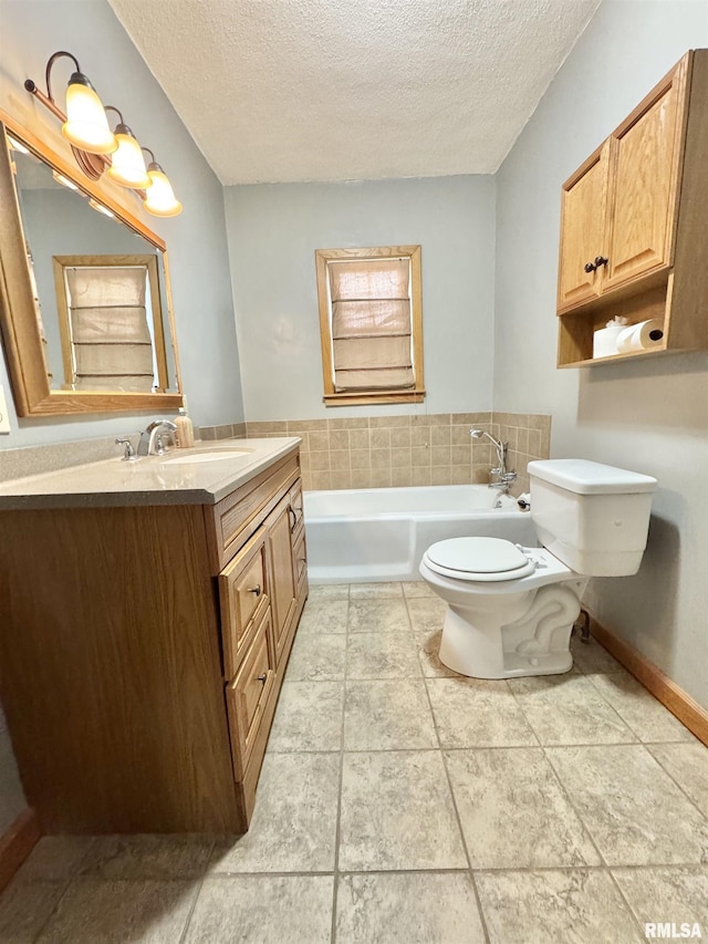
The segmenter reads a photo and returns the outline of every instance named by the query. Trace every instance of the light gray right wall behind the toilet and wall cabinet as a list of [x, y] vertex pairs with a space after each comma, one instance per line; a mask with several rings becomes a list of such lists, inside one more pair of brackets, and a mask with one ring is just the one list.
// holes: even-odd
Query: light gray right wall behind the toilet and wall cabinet
[[555, 369], [561, 184], [686, 50], [706, 45], [705, 2], [605, 0], [503, 163], [493, 403], [552, 413], [552, 457], [656, 476], [639, 573], [594, 581], [589, 603], [708, 707], [708, 355]]

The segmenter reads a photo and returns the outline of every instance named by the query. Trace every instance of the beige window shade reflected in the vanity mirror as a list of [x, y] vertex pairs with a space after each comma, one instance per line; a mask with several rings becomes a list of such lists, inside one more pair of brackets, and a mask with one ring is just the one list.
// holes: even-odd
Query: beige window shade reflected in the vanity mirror
[[76, 390], [152, 391], [146, 274], [140, 266], [65, 269]]

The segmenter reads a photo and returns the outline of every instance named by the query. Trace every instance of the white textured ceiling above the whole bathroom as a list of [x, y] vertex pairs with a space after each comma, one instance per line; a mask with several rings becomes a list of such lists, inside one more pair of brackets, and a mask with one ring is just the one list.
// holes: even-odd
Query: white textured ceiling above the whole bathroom
[[494, 173], [600, 0], [110, 0], [222, 184]]

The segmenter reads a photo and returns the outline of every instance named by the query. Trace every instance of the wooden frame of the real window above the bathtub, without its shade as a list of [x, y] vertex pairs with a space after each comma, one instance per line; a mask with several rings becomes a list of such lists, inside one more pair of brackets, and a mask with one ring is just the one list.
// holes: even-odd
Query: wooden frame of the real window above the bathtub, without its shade
[[[325, 406], [352, 406], [377, 403], [421, 403], [423, 382], [423, 293], [420, 289], [419, 246], [376, 246], [361, 249], [316, 249], [317, 302], [320, 309], [320, 341], [322, 343], [323, 401]], [[327, 263], [342, 260], [408, 259], [410, 266], [410, 331], [415, 387], [412, 390], [374, 390], [337, 393], [334, 388], [332, 357], [332, 315]]]

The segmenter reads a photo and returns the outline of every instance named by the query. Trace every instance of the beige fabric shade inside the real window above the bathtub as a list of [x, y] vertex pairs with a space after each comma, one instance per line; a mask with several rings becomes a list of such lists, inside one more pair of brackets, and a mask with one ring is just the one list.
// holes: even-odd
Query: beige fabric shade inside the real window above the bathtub
[[336, 392], [415, 386], [410, 262], [330, 262], [332, 361]]

